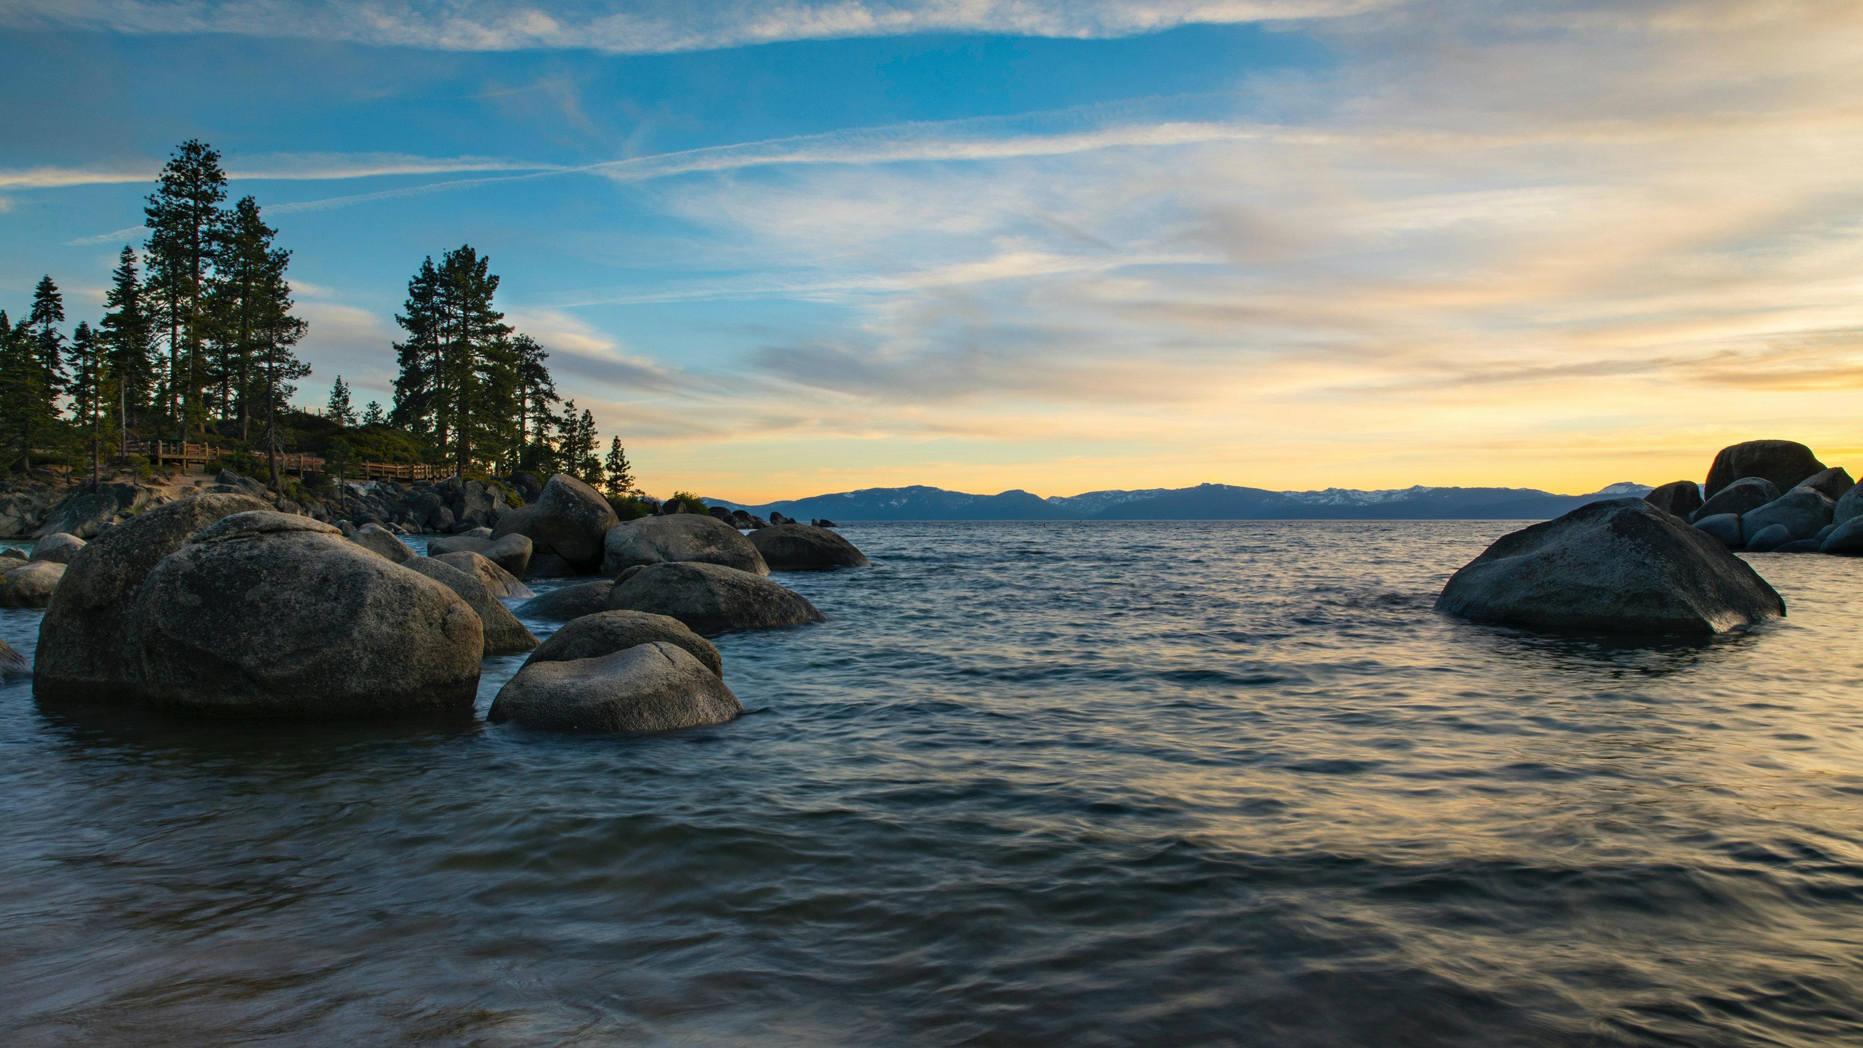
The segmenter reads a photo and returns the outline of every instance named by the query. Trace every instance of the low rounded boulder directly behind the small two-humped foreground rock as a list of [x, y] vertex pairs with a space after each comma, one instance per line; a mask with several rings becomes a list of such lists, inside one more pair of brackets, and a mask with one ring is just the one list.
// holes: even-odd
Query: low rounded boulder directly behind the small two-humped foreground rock
[[654, 563], [615, 584], [607, 606], [652, 612], [714, 636], [820, 623], [825, 615], [801, 593], [760, 574], [715, 563]]

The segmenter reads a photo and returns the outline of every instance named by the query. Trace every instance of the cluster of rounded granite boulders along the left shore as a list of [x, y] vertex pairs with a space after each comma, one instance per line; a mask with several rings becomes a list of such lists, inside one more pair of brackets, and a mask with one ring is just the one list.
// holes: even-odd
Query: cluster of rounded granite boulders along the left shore
[[[34, 690], [47, 701], [132, 701], [220, 716], [350, 718], [466, 710], [479, 662], [531, 651], [490, 720], [551, 731], [663, 731], [743, 712], [704, 640], [822, 621], [779, 571], [864, 567], [833, 531], [777, 524], [751, 535], [704, 515], [619, 522], [568, 476], [527, 505], [428, 543], [399, 520], [281, 513], [238, 483], [138, 513], [86, 543], [43, 539], [0, 559], [0, 600], [43, 589]], [[473, 520], [479, 485], [458, 494]], [[443, 520], [428, 505], [428, 522]], [[17, 563], [15, 563], [17, 561]], [[11, 567], [9, 567], [11, 565]], [[538, 597], [524, 578], [604, 578]], [[19, 582], [15, 582], [19, 576]], [[39, 576], [52, 576], [41, 586]], [[525, 617], [566, 621], [544, 645]], [[24, 660], [0, 651], [0, 673]]]

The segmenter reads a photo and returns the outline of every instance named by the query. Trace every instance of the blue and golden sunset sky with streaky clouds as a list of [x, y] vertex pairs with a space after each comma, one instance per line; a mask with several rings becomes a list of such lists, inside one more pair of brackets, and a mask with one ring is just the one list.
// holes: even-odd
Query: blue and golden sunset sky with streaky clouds
[[186, 138], [300, 401], [473, 244], [648, 492], [1863, 466], [1856, 0], [0, 0], [0, 308]]

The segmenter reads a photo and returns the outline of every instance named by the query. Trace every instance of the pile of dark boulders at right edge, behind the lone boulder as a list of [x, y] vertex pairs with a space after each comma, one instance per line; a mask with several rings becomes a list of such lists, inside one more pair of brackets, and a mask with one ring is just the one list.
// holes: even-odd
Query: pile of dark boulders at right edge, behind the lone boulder
[[1643, 498], [1729, 550], [1863, 556], [1863, 490], [1792, 440], [1723, 448], [1705, 485], [1675, 481]]

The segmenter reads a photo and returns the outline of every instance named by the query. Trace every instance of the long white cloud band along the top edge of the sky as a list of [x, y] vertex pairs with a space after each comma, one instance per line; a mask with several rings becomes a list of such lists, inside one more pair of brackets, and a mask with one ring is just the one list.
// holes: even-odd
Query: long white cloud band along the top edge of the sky
[[0, 24], [238, 34], [434, 50], [663, 54], [928, 32], [1120, 37], [1196, 22], [1330, 19], [1386, 0], [11, 0]]

